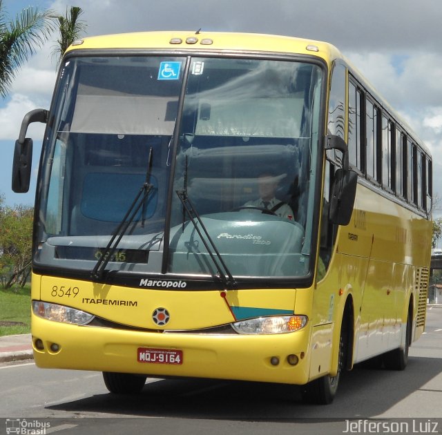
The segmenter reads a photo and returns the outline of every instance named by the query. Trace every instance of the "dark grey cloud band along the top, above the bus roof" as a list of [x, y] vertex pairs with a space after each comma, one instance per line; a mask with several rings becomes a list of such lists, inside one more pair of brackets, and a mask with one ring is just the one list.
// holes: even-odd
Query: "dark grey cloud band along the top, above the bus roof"
[[[400, 10], [398, 5], [400, 3]], [[343, 50], [438, 50], [440, 0], [77, 0], [88, 35], [140, 30], [231, 30], [322, 39]], [[68, 1], [51, 8], [63, 12]]]

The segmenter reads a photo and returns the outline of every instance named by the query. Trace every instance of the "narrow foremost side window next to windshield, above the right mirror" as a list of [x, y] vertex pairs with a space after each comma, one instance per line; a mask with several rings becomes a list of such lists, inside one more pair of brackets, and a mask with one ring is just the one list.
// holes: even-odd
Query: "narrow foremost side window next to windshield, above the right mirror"
[[345, 139], [345, 66], [334, 64], [329, 96], [328, 133]]

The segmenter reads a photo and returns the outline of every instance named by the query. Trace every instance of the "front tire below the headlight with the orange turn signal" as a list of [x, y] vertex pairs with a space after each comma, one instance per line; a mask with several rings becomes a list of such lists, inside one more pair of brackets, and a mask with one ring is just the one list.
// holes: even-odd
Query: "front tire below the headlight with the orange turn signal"
[[312, 380], [302, 388], [302, 401], [315, 405], [329, 405], [333, 402], [338, 391], [340, 374], [345, 365], [345, 355], [347, 351], [347, 329], [345, 323], [340, 331], [338, 373], [336, 376], [323, 376]]

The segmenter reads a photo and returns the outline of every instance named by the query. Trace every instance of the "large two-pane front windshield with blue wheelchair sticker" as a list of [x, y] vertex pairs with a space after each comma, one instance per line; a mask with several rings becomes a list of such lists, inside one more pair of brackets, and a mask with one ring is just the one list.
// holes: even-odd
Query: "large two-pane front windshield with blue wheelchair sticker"
[[44, 141], [35, 267], [87, 278], [134, 211], [108, 271], [307, 276], [323, 81], [299, 60], [67, 58]]

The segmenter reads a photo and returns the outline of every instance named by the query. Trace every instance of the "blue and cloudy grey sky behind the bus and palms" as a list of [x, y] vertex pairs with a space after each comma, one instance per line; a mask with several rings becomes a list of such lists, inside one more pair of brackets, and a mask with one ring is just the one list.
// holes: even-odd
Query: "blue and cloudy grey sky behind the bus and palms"
[[[333, 43], [389, 101], [433, 156], [434, 217], [442, 215], [441, 0], [3, 0], [12, 19], [19, 10], [66, 12], [79, 6], [84, 36], [148, 30], [269, 33]], [[6, 203], [32, 204], [43, 124], [32, 124], [34, 175], [30, 193], [12, 193], [12, 153], [23, 115], [49, 108], [57, 35], [24, 66], [0, 101], [0, 193]]]

